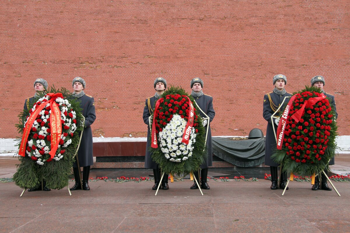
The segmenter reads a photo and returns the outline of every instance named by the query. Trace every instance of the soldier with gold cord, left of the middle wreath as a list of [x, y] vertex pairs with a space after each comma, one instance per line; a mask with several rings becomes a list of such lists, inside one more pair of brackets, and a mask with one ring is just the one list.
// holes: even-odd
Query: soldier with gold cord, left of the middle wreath
[[155, 108], [155, 102], [159, 100], [160, 96], [163, 94], [165, 89], [167, 89], [167, 81], [163, 78], [156, 78], [154, 80], [154, 89], [156, 90], [156, 93], [154, 96], [151, 96], [146, 99], [145, 108], [144, 108], [144, 122], [147, 127], [147, 146], [146, 146], [146, 156], [145, 156], [145, 168], [153, 169], [153, 175], [154, 175], [154, 185], [152, 187], [152, 190], [156, 190], [158, 188], [159, 182], [161, 182], [162, 189], [167, 190], [169, 189], [168, 185], [168, 174], [164, 174], [163, 180], [160, 181], [161, 178], [161, 170], [159, 168], [159, 165], [153, 161], [152, 159], [152, 153], [149, 151], [149, 147], [151, 147], [151, 131], [150, 131], [150, 122], [149, 122], [149, 116], [153, 114], [154, 108]]

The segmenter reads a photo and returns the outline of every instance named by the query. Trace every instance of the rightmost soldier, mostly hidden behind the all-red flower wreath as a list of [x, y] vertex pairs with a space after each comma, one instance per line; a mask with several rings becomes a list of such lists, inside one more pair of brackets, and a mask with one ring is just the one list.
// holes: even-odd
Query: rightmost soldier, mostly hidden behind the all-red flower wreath
[[[324, 78], [321, 75], [317, 75], [315, 77], [313, 77], [311, 79], [311, 86], [313, 87], [317, 87], [320, 88], [323, 92], [323, 94], [330, 99], [330, 104], [332, 105], [334, 111], [335, 111], [335, 116], [334, 118], [337, 119], [338, 118], [338, 113], [337, 113], [337, 109], [335, 106], [335, 100], [334, 100], [334, 95], [328, 94], [326, 92], [324, 92], [323, 87], [324, 87]], [[334, 157], [329, 161], [329, 165], [334, 165]], [[324, 172], [327, 174], [327, 168], [324, 169]], [[323, 190], [327, 190], [327, 191], [331, 191], [332, 188], [328, 187], [327, 184], [327, 177], [325, 177], [325, 175], [323, 174], [323, 172], [321, 173], [321, 189]], [[315, 177], [315, 184], [311, 187], [311, 190], [318, 190], [320, 189], [320, 179], [318, 178], [318, 176]]]

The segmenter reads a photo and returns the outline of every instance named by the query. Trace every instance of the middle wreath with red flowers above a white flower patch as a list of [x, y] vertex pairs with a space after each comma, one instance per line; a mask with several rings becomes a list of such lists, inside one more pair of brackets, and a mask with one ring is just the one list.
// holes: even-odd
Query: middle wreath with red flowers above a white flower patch
[[205, 130], [192, 96], [170, 87], [156, 101], [151, 125], [149, 150], [162, 172], [188, 174], [200, 167], [206, 156]]

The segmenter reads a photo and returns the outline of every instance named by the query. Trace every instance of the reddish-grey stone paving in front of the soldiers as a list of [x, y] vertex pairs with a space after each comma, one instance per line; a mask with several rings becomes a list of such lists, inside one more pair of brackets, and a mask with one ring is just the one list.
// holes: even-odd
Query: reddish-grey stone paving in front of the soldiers
[[[347, 157], [341, 166], [349, 167]], [[0, 162], [0, 177], [11, 177], [14, 162]], [[350, 232], [346, 182], [334, 182], [340, 197], [295, 181], [284, 196], [268, 180], [210, 181], [204, 196], [189, 180], [157, 196], [152, 182], [89, 184], [72, 196], [64, 188], [20, 197], [14, 182], [0, 183], [0, 232]]]

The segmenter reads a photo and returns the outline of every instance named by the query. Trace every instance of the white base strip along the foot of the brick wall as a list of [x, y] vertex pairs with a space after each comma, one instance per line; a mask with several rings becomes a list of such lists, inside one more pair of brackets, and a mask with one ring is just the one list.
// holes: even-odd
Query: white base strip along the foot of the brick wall
[[[227, 137], [227, 138], [237, 138], [240, 136], [216, 136], [216, 137]], [[13, 156], [18, 153], [18, 147], [16, 144], [20, 139], [16, 138], [0, 138], [0, 156]], [[93, 142], [118, 142], [118, 141], [146, 141], [147, 138], [93, 138]], [[336, 142], [340, 150], [339, 154], [350, 153], [350, 136], [338, 136]]]

